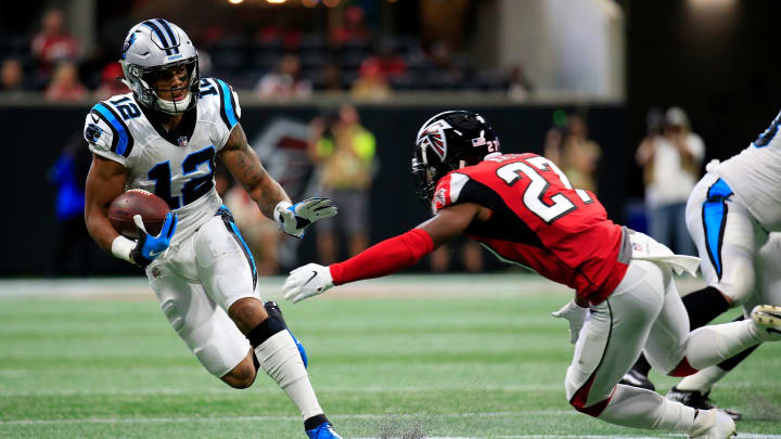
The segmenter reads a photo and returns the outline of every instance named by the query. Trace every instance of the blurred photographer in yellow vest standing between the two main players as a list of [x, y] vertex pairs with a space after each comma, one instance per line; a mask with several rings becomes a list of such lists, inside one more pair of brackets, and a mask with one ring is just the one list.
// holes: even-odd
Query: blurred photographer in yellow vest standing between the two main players
[[369, 243], [369, 188], [373, 177], [374, 135], [360, 125], [357, 109], [344, 104], [338, 115], [316, 118], [309, 151], [320, 165], [320, 184], [343, 212], [337, 221], [318, 221], [318, 254], [323, 263], [338, 257], [337, 233], [347, 235], [349, 255]]

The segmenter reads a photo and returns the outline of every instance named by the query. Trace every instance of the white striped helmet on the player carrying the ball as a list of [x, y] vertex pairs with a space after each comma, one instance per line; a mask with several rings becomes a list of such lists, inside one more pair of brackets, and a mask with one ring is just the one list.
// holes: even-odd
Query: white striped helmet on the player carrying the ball
[[[197, 103], [199, 63], [197, 51], [190, 37], [179, 26], [163, 18], [143, 21], [133, 26], [125, 38], [121, 49], [125, 82], [143, 105], [176, 115], [184, 113]], [[152, 75], [161, 70], [185, 66], [190, 92], [181, 101], [168, 101], [154, 88]], [[165, 90], [169, 91], [169, 90]]]

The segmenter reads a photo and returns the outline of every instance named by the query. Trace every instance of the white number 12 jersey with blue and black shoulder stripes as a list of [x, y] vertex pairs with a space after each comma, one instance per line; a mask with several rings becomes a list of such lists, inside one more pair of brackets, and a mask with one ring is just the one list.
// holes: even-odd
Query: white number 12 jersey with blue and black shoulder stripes
[[194, 129], [177, 139], [146, 118], [132, 93], [99, 102], [85, 122], [90, 150], [127, 168], [127, 189], [152, 192], [176, 211], [174, 243], [192, 234], [222, 204], [214, 183], [215, 155], [241, 117], [239, 99], [226, 82], [201, 79], [200, 91], [196, 109], [181, 121]]

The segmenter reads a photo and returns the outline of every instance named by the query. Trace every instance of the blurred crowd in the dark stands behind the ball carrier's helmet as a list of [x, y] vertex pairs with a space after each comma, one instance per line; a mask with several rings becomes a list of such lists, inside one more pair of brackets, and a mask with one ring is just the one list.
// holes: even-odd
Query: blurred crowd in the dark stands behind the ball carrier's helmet
[[[223, 78], [261, 98], [284, 99], [312, 92], [382, 100], [394, 91], [492, 90], [524, 100], [533, 90], [522, 66], [481, 69], [445, 40], [380, 36], [360, 5], [344, 8], [340, 24], [320, 33], [300, 30], [280, 16], [253, 33], [220, 24], [193, 35], [202, 76]], [[106, 99], [126, 92], [118, 80], [118, 49], [98, 47], [88, 53], [66, 23], [64, 11], [50, 9], [33, 35], [2, 35], [2, 95], [40, 91], [51, 101], [77, 102], [90, 93]]]

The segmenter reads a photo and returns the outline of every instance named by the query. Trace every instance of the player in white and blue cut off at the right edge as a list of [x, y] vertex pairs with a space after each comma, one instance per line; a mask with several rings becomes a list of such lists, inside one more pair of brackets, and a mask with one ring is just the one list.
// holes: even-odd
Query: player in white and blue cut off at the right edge
[[[781, 305], [781, 113], [757, 140], [729, 159], [708, 164], [687, 203], [687, 227], [700, 253], [707, 286], [683, 297], [692, 330], [737, 306], [748, 315], [756, 304]], [[742, 317], [739, 318], [742, 319]], [[690, 375], [667, 393], [687, 405], [708, 409], [708, 393], [756, 346]], [[625, 384], [650, 384], [643, 360]], [[646, 364], [646, 363], [645, 363]], [[740, 413], [728, 411], [733, 418]]]

